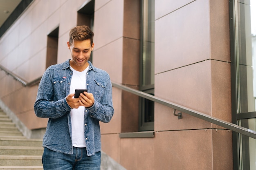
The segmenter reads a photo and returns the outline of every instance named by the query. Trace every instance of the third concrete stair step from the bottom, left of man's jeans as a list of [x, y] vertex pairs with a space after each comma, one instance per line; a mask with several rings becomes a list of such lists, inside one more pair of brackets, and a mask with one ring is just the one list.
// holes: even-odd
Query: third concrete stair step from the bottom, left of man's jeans
[[41, 146], [0, 146], [0, 155], [43, 155]]

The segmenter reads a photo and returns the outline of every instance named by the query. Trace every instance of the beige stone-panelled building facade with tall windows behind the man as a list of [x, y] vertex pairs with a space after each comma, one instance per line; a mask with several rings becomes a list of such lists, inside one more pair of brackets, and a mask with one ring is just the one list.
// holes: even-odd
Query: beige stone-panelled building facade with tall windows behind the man
[[[0, 66], [33, 82], [70, 58], [69, 31], [86, 24], [95, 33], [92, 63], [113, 83], [255, 130], [252, 1], [33, 0], [0, 37]], [[38, 83], [5, 71], [0, 106], [24, 135], [41, 138]], [[115, 86], [112, 93], [102, 150], [127, 170], [256, 170], [255, 139], [186, 113], [178, 119], [179, 110]]]

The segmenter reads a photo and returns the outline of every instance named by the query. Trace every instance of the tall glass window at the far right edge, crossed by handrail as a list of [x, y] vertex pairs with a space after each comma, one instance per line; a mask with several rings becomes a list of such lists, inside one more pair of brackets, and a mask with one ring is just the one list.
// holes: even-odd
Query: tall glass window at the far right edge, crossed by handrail
[[[231, 2], [233, 123], [256, 130], [256, 1]], [[256, 140], [234, 136], [234, 169], [255, 170]]]

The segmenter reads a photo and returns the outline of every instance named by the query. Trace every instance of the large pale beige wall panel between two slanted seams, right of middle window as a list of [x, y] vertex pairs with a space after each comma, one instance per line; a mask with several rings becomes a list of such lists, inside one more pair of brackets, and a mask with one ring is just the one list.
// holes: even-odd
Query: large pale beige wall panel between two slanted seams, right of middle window
[[155, 73], [210, 58], [208, 3], [196, 0], [155, 21]]

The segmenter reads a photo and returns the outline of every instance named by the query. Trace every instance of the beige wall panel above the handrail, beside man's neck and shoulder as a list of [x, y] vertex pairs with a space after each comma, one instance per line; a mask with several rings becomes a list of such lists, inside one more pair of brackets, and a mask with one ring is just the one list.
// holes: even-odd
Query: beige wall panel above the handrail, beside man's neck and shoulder
[[108, 72], [113, 82], [122, 82], [123, 73], [123, 38], [119, 38], [99, 48], [95, 42], [93, 50], [93, 65]]

